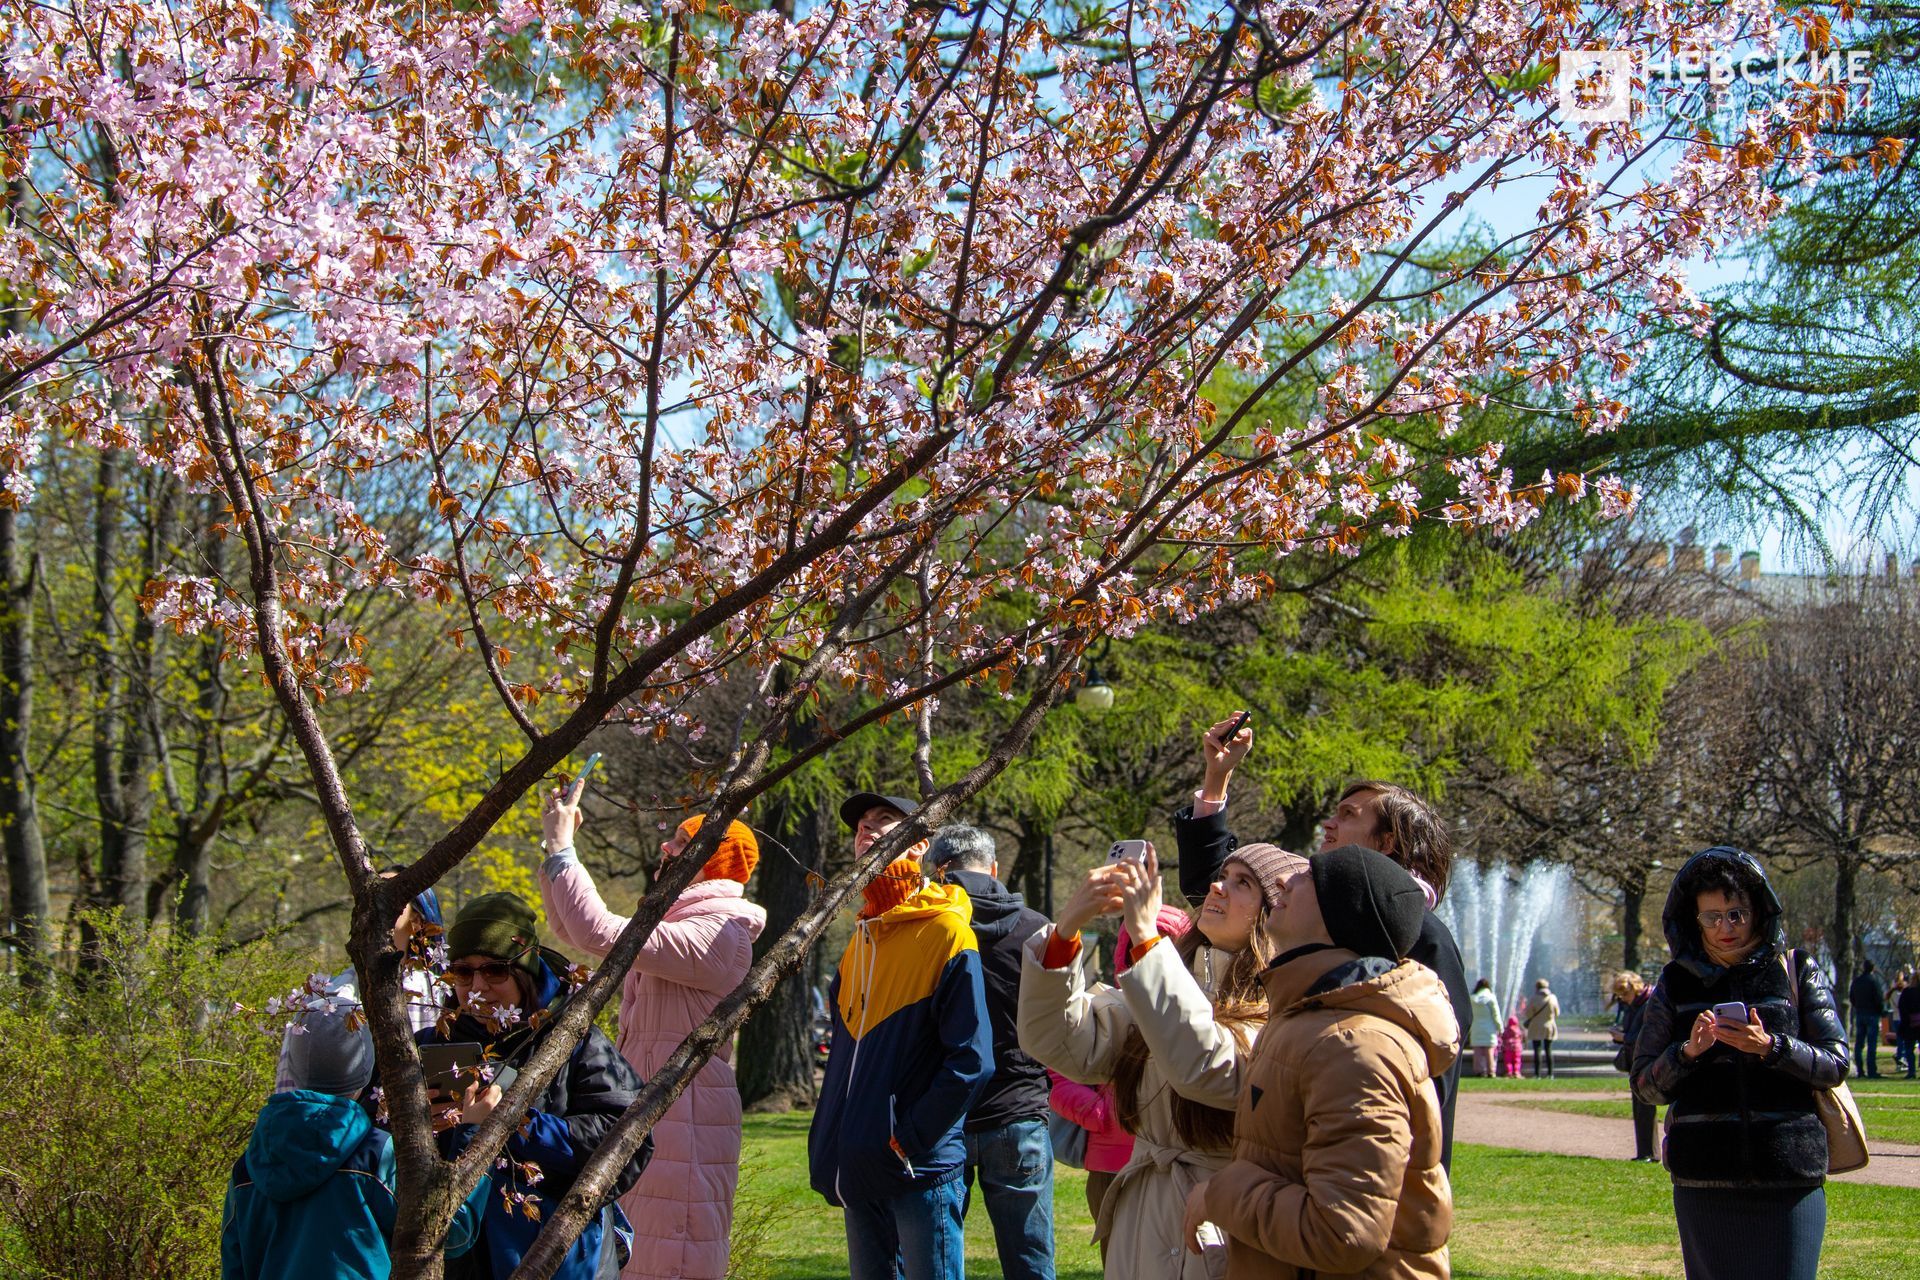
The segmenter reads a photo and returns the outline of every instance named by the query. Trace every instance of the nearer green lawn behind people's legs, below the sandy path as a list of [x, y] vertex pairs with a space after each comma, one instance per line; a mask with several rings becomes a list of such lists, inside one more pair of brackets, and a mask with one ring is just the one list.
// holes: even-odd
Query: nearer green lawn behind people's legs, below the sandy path
[[[1603, 1102], [1603, 1100], [1596, 1100]], [[1574, 1103], [1580, 1105], [1580, 1103]], [[735, 1280], [847, 1274], [841, 1215], [806, 1186], [806, 1113], [749, 1115]], [[1096, 1280], [1085, 1174], [1056, 1169], [1054, 1232], [1062, 1280]], [[1912, 1272], [1920, 1192], [1828, 1186], [1822, 1280]], [[1453, 1150], [1453, 1274], [1471, 1280], [1645, 1280], [1680, 1274], [1665, 1171], [1628, 1161]], [[996, 1278], [987, 1215], [968, 1215], [968, 1274]]]

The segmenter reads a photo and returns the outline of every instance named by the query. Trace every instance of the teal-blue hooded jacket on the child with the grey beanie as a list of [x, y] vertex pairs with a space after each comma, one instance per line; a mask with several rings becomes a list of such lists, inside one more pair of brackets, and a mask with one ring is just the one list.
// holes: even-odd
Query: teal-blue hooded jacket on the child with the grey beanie
[[[447, 1257], [472, 1247], [488, 1180], [453, 1213]], [[386, 1280], [394, 1140], [351, 1098], [292, 1090], [259, 1109], [234, 1161], [221, 1280]]]

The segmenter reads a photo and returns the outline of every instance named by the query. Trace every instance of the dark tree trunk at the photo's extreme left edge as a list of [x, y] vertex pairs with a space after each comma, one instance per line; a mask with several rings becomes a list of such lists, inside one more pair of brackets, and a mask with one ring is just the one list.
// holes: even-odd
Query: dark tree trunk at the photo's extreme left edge
[[52, 954], [46, 846], [33, 794], [33, 580], [19, 568], [19, 512], [0, 509], [0, 823], [6, 841], [6, 931], [29, 981]]

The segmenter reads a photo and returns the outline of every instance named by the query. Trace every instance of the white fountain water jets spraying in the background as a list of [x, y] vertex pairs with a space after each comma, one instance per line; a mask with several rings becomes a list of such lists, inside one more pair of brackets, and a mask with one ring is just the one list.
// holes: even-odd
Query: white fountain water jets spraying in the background
[[1471, 858], [1453, 862], [1446, 898], [1434, 913], [1459, 942], [1467, 981], [1494, 984], [1501, 1021], [1519, 1007], [1523, 994], [1532, 994], [1532, 979], [1546, 975], [1546, 969], [1530, 971], [1534, 944], [1557, 940], [1548, 925], [1563, 923], [1555, 910], [1565, 904], [1569, 883], [1567, 867], [1557, 864], [1482, 867]]

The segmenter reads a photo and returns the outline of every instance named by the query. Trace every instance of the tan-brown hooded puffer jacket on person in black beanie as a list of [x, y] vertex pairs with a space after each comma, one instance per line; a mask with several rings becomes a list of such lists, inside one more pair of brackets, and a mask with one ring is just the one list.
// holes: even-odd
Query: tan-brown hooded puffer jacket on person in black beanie
[[1206, 1184], [1229, 1280], [1446, 1280], [1453, 1192], [1434, 1079], [1459, 1023], [1425, 965], [1325, 948], [1273, 965], [1233, 1163]]

